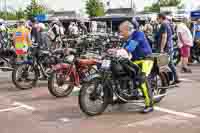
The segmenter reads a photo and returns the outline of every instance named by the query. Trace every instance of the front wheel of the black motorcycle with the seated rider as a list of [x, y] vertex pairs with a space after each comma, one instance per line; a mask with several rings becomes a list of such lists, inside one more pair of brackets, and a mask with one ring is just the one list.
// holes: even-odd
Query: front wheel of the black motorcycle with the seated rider
[[83, 84], [79, 93], [80, 109], [89, 116], [100, 115], [108, 106], [108, 93], [101, 80], [94, 79]]

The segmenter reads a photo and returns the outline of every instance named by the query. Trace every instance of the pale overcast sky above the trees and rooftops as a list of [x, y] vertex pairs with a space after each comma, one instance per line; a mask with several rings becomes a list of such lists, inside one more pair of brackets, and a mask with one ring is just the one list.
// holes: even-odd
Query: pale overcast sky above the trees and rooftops
[[[0, 7], [2, 9], [3, 2], [5, 0], [0, 0]], [[84, 9], [86, 0], [38, 0], [41, 3], [47, 5], [49, 8], [54, 10], [76, 10]], [[108, 1], [108, 0], [102, 0]], [[130, 7], [131, 0], [110, 0], [111, 7]], [[136, 1], [137, 10], [142, 10], [144, 6], [149, 5], [156, 0], [133, 0]], [[200, 5], [200, 0], [183, 0], [188, 8], [195, 8], [197, 5]], [[14, 9], [24, 8], [27, 4], [30, 3], [30, 0], [7, 0], [7, 5]]]

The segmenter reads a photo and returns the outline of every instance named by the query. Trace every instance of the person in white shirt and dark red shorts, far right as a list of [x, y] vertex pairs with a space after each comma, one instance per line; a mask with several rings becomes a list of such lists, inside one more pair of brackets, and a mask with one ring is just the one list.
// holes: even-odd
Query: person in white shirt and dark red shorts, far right
[[183, 22], [177, 25], [178, 47], [181, 51], [182, 72], [191, 73], [188, 68], [188, 59], [190, 57], [190, 49], [193, 46], [193, 37], [189, 28]]

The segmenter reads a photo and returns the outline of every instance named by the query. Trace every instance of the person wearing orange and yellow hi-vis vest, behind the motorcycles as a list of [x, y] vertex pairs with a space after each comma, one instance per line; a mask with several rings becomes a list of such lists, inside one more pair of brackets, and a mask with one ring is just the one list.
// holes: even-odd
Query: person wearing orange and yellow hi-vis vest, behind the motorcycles
[[25, 27], [25, 21], [19, 20], [18, 27], [13, 35], [17, 62], [25, 60], [28, 47], [31, 45], [30, 31]]

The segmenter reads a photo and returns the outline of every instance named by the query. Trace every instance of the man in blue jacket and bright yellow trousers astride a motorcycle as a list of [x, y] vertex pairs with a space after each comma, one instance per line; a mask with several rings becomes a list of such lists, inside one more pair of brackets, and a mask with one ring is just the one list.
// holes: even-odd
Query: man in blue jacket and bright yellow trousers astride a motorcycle
[[[147, 60], [146, 58], [151, 56], [152, 50], [145, 37], [145, 34], [139, 29], [139, 24], [135, 19], [132, 20], [132, 23], [125, 21], [121, 23], [119, 30], [120, 35], [127, 40], [123, 48], [127, 50], [128, 53], [132, 54], [133, 63], [142, 66], [142, 72], [145, 74], [145, 77], [151, 72], [153, 67], [153, 61]], [[142, 111], [143, 113], [149, 113], [153, 111], [153, 101], [152, 101], [152, 92], [149, 90], [147, 85], [147, 80], [141, 84], [141, 89], [143, 95], [145, 96], [145, 108]]]

